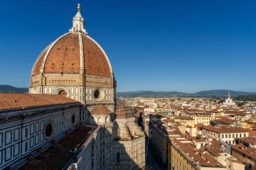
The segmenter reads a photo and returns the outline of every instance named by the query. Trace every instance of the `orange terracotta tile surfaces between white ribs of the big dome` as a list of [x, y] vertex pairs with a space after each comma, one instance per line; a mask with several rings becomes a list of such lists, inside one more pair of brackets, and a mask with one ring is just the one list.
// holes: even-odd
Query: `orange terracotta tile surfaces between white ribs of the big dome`
[[[80, 33], [68, 33], [51, 48], [45, 62], [44, 73], [80, 72]], [[85, 74], [111, 77], [111, 68], [105, 52], [87, 35], [81, 34]], [[49, 46], [48, 48], [50, 48]], [[38, 58], [33, 76], [38, 75], [48, 48]]]

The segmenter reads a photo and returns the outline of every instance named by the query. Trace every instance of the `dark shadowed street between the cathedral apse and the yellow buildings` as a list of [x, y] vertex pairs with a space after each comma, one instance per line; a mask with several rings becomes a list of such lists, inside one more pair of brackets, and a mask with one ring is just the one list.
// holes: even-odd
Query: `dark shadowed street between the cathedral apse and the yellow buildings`
[[[144, 131], [144, 126], [142, 123], [142, 119], [140, 119], [139, 124], [142, 127], [142, 130]], [[159, 160], [157, 160], [156, 157], [154, 157], [153, 152], [152, 152], [153, 144], [149, 140], [148, 141], [148, 136], [145, 135], [145, 161], [146, 161], [146, 166], [143, 168], [143, 170], [168, 170], [168, 167], [164, 167], [161, 164], [158, 164]]]

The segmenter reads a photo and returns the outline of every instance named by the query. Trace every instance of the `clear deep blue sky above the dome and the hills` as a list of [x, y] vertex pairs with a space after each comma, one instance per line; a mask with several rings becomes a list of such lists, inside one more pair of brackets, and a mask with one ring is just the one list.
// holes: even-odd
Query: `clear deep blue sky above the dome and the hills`
[[29, 87], [35, 60], [69, 31], [78, 3], [117, 91], [256, 92], [253, 0], [1, 1], [0, 84]]

